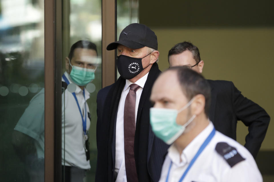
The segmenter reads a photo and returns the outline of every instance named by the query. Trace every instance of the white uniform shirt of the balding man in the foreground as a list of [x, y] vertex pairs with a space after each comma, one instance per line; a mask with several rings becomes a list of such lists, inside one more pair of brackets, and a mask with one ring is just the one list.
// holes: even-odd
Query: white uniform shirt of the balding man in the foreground
[[[168, 170], [172, 162], [169, 173], [169, 182], [178, 182], [182, 177], [190, 161], [194, 158], [202, 143], [213, 130], [213, 124], [210, 124], [179, 154], [178, 150], [172, 144], [168, 149], [168, 155], [163, 164], [160, 182], [165, 182]], [[215, 150], [216, 144], [226, 142], [235, 147], [237, 152], [245, 158], [233, 167], [230, 167], [227, 161]], [[181, 158], [181, 162], [180, 162]], [[196, 159], [183, 181], [195, 182], [262, 182], [262, 176], [257, 164], [249, 151], [235, 140], [216, 131], [206, 148]]]

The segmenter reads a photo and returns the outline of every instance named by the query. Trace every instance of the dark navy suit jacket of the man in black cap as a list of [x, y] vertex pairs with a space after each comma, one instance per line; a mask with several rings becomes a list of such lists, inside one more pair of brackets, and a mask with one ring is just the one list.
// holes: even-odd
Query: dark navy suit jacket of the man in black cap
[[[108, 160], [108, 159], [99, 155], [103, 148], [102, 143], [100, 143], [100, 136], [107, 135], [107, 133], [104, 133], [101, 131], [102, 130], [101, 128], [104, 126], [101, 126], [100, 124], [101, 124], [103, 115], [106, 114], [106, 113], [104, 113], [104, 104], [109, 104], [108, 102], [106, 102], [106, 97], [108, 95], [110, 88], [113, 85], [114, 84], [107, 86], [105, 88], [102, 88], [97, 94], [97, 117], [98, 117], [98, 119], [97, 119], [96, 137], [97, 137], [98, 156], [97, 156], [97, 168], [96, 168], [95, 181], [109, 181], [108, 179], [115, 178], [114, 167], [115, 167], [115, 136], [116, 136], [115, 126], [116, 126], [116, 121], [114, 123], [114, 129], [113, 129], [114, 132], [113, 132], [112, 146], [111, 146], [111, 148], [112, 148], [112, 173], [111, 174], [106, 174], [107, 166], [100, 165], [102, 163], [105, 163], [106, 160]], [[144, 89], [145, 89], [145, 87], [146, 87], [146, 85], [144, 86]], [[150, 89], [150, 92], [151, 92], [151, 87], [152, 87], [152, 85], [150, 86], [150, 88], [147, 87], [146, 89]], [[143, 92], [144, 92], [144, 89], [143, 89]], [[141, 120], [144, 120], [146, 117], [149, 116], [149, 108], [152, 106], [149, 101], [149, 98], [150, 98], [150, 94], [146, 97], [141, 96], [139, 106], [138, 106], [138, 112], [137, 112], [137, 120], [138, 120], [138, 118]], [[116, 111], [116, 114], [117, 114], [117, 111]], [[149, 122], [149, 118], [146, 118], [145, 120], [147, 120], [147, 122]], [[169, 146], [167, 144], [165, 144], [162, 140], [155, 137], [155, 135], [151, 129], [151, 126], [150, 126], [149, 133], [148, 133], [148, 151], [147, 151], [148, 152], [147, 171], [148, 171], [148, 174], [150, 177], [150, 179], [148, 179], [149, 181], [159, 181], [161, 170], [162, 170], [162, 165], [164, 163], [164, 159], [167, 154], [168, 147]], [[108, 162], [108, 163], [110, 164], [110, 162]]]

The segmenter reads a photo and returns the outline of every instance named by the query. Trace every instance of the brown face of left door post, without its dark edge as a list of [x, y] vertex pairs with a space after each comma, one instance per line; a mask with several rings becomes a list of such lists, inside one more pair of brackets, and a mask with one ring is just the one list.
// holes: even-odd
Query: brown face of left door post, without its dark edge
[[54, 181], [54, 0], [45, 0], [45, 182]]

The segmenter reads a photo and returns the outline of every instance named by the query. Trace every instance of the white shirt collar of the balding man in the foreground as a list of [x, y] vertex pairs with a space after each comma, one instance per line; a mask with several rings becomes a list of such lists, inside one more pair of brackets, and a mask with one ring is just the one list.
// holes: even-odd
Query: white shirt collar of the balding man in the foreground
[[[190, 144], [188, 144], [188, 146], [186, 146], [181, 155], [179, 154], [175, 145], [172, 144], [168, 149], [168, 156], [172, 163], [176, 164], [177, 166], [184, 166], [185, 164], [190, 163], [212, 130], [213, 124], [210, 122], [209, 125], [207, 125], [207, 127], [199, 135], [197, 135], [190, 142]], [[182, 159], [181, 163], [180, 158]]]

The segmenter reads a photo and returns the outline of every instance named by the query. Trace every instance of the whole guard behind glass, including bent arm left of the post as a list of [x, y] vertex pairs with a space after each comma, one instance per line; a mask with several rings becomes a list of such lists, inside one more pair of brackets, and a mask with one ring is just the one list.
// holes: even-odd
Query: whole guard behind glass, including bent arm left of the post
[[[67, 71], [62, 76], [62, 178], [80, 182], [90, 169], [88, 129], [90, 112], [85, 86], [94, 79], [97, 67], [96, 45], [79, 40], [66, 58]], [[44, 88], [30, 101], [14, 128], [13, 145], [26, 163], [31, 181], [44, 181]], [[28, 147], [25, 147], [28, 146]], [[64, 181], [64, 179], [62, 179]]]

